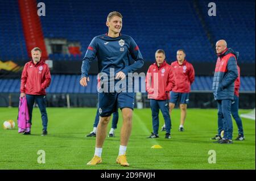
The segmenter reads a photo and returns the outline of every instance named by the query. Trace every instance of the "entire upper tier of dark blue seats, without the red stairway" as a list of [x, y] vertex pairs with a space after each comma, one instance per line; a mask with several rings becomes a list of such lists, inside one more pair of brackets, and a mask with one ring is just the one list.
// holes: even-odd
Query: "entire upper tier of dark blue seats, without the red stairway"
[[[92, 38], [107, 31], [106, 15], [117, 10], [123, 15], [122, 32], [134, 37], [146, 61], [154, 60], [159, 48], [166, 50], [170, 60], [175, 60], [177, 49], [185, 49], [191, 62], [215, 60], [208, 39], [212, 36], [214, 41], [226, 39], [239, 51], [240, 62], [255, 62], [255, 1], [218, 1], [217, 16], [208, 16], [209, 2], [198, 2], [203, 17], [197, 14], [195, 1], [190, 0], [44, 0], [46, 16], [40, 17], [44, 37], [80, 41], [82, 52], [81, 56], [50, 54], [49, 58], [81, 60]], [[18, 1], [10, 1], [8, 6], [1, 1], [0, 13], [0, 24], [5, 24], [0, 29], [0, 60], [27, 60]], [[205, 26], [210, 30], [208, 36]]]

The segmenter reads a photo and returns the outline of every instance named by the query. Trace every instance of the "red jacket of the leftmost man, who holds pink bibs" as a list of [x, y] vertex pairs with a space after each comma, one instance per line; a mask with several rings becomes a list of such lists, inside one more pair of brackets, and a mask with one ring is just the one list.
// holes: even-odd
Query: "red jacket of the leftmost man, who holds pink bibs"
[[34, 64], [27, 62], [22, 71], [20, 92], [31, 95], [46, 95], [46, 88], [51, 83], [51, 74], [44, 61]]

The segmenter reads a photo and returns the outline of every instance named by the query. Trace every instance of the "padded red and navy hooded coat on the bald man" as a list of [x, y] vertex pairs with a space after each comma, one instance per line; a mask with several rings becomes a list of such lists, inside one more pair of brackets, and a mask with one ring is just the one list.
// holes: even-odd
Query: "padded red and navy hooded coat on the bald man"
[[234, 99], [234, 81], [238, 77], [238, 52], [231, 48], [218, 54], [213, 77], [213, 95], [215, 100]]

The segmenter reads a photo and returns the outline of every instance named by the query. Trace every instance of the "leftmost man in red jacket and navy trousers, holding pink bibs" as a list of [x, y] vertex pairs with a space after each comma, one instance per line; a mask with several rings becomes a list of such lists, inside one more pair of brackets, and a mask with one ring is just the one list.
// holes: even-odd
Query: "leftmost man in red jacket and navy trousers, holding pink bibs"
[[[51, 74], [48, 65], [41, 60], [42, 50], [35, 47], [31, 50], [32, 61], [27, 62], [22, 71], [20, 83], [20, 97], [26, 96], [28, 113], [30, 115], [29, 123], [32, 121], [32, 110], [34, 102], [38, 104], [42, 115], [43, 133], [47, 134], [48, 117], [46, 112], [46, 88], [51, 83]], [[30, 131], [24, 134], [30, 134]]]

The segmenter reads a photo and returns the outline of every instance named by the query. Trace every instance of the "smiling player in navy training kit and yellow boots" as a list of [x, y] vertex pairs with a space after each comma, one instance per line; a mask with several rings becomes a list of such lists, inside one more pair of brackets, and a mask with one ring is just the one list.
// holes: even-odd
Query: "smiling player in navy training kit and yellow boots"
[[[121, 35], [122, 15], [119, 12], [113, 11], [109, 13], [106, 26], [109, 28], [108, 33], [94, 37], [85, 53], [81, 68], [80, 84], [87, 86], [90, 64], [94, 58], [98, 58], [98, 72], [100, 73], [98, 76], [100, 78], [98, 112], [100, 114], [100, 123], [98, 123], [97, 127], [94, 157], [87, 165], [101, 163], [102, 146], [106, 138], [110, 116], [119, 107], [122, 110], [123, 125], [121, 128], [121, 144], [116, 162], [122, 166], [129, 166], [126, 159], [126, 146], [131, 134], [134, 92], [128, 91], [127, 85], [132, 81], [128, 79], [127, 83], [126, 76], [128, 73], [141, 68], [144, 61], [133, 38]], [[135, 60], [133, 64], [130, 63], [130, 56]], [[115, 83], [119, 83], [120, 80], [126, 83], [121, 92], [116, 90], [115, 87]]]

